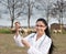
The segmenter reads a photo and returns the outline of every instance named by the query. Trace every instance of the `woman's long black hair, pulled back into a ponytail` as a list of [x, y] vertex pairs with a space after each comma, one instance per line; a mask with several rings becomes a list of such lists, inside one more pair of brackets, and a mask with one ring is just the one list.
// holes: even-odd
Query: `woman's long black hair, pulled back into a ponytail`
[[[38, 22], [38, 21], [42, 21], [47, 26], [46, 30], [45, 30], [45, 33], [46, 33], [46, 35], [48, 37], [51, 37], [47, 22], [43, 18], [37, 19], [36, 22]], [[53, 42], [52, 42], [52, 45], [51, 45], [51, 48], [50, 48], [48, 54], [52, 54], [53, 53], [53, 50], [54, 50], [54, 45], [53, 45]]]

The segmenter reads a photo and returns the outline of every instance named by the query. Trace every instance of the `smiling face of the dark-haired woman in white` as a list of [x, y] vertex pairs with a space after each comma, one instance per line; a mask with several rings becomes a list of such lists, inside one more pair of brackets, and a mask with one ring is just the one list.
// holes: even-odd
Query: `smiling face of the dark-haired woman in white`
[[43, 34], [45, 33], [46, 25], [42, 21], [37, 21], [35, 25], [36, 33]]

